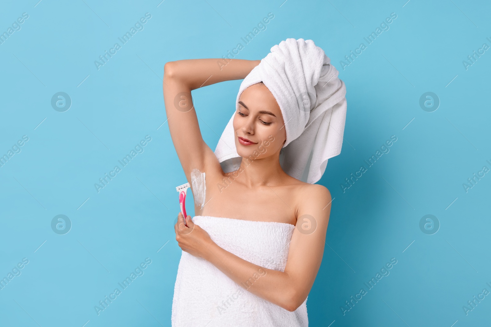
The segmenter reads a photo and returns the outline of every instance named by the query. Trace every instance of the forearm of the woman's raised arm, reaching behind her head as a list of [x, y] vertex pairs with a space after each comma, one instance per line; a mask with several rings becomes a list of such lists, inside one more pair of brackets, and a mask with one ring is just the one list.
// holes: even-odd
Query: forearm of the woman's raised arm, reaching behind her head
[[165, 78], [177, 78], [190, 90], [218, 82], [243, 79], [261, 60], [207, 58], [183, 59], [165, 64]]

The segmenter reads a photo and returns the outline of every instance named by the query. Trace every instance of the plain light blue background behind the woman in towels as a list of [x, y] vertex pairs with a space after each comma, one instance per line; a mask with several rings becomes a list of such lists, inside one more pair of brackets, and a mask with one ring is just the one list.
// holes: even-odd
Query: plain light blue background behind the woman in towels
[[[164, 64], [219, 58], [269, 12], [274, 19], [237, 58], [260, 59], [286, 38], [312, 39], [347, 86], [343, 148], [319, 181], [333, 201], [307, 301], [310, 326], [489, 323], [491, 296], [468, 315], [463, 306], [491, 291], [491, 174], [467, 193], [463, 183], [491, 168], [490, 50], [467, 70], [462, 63], [491, 46], [489, 3], [160, 1], [0, 4], [2, 32], [29, 15], [0, 45], [0, 154], [29, 137], [0, 168], [0, 277], [29, 260], [0, 290], [0, 326], [170, 326], [181, 255], [175, 187], [186, 178], [163, 124]], [[97, 70], [99, 55], [147, 12], [144, 29]], [[340, 60], [391, 13], [390, 28], [343, 70]], [[212, 149], [240, 83], [193, 91]], [[72, 99], [68, 111], [51, 106], [57, 92]], [[436, 111], [419, 106], [425, 92], [441, 101]], [[144, 152], [98, 193], [94, 183], [145, 135]], [[390, 151], [343, 193], [345, 178], [391, 135]], [[65, 235], [51, 229], [58, 214], [72, 222]], [[426, 214], [441, 224], [433, 235], [419, 228]], [[145, 258], [144, 275], [97, 315], [94, 306]], [[390, 275], [343, 315], [345, 301], [391, 258]]]

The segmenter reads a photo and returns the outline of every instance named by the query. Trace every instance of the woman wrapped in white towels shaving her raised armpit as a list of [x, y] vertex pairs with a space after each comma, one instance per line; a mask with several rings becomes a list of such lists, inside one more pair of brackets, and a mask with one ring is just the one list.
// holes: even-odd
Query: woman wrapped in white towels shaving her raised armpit
[[[307, 158], [302, 159], [300, 167], [306, 170], [301, 171], [314, 176], [309, 169], [317, 163], [318, 175], [322, 175], [327, 157], [340, 151], [346, 91], [324, 51], [311, 40], [287, 39], [275, 47], [263, 60], [190, 59], [164, 66], [165, 108], [177, 155], [193, 188], [197, 185], [193, 174], [206, 176], [206, 187], [192, 188], [196, 216], [184, 221], [179, 213], [175, 225], [183, 253], [174, 289], [172, 326], [308, 326], [306, 299], [322, 261], [331, 196], [326, 187], [300, 180], [299, 170], [294, 169], [299, 164], [291, 164], [297, 159], [290, 165], [283, 162], [283, 167], [289, 167], [287, 174], [280, 154], [299, 139], [302, 143], [291, 146], [299, 150], [291, 156], [298, 158], [300, 149], [308, 149], [311, 158], [308, 164]], [[305, 57], [296, 57], [302, 51]], [[314, 59], [308, 57], [313, 54], [317, 54]], [[307, 85], [300, 83], [299, 89], [289, 77], [300, 74], [297, 69], [305, 69], [306, 62], [315, 67], [305, 73]], [[255, 79], [251, 71], [258, 72]], [[330, 78], [327, 82], [335, 86], [335, 92], [319, 97], [328, 89], [321, 89], [322, 74]], [[249, 76], [246, 84], [250, 85], [245, 85]], [[227, 126], [229, 134], [222, 134], [214, 152], [201, 136], [191, 90], [243, 78], [237, 110]], [[308, 85], [309, 79], [315, 80], [315, 85]], [[293, 101], [283, 99], [281, 92], [286, 92], [283, 98], [294, 97]], [[333, 95], [339, 99], [317, 113], [316, 122], [309, 121], [319, 99], [325, 101]], [[294, 109], [288, 109], [292, 103]], [[337, 118], [334, 110], [341, 112]], [[339, 149], [329, 156], [324, 151], [332, 150], [327, 131], [318, 131], [329, 129], [333, 117], [342, 124], [335, 136]], [[302, 139], [309, 133], [314, 136]], [[320, 162], [315, 154], [312, 159], [316, 149], [324, 153]], [[218, 153], [227, 151], [232, 155], [218, 158]], [[223, 170], [225, 159], [234, 163], [233, 171]], [[205, 194], [201, 203], [196, 201], [197, 193]]]

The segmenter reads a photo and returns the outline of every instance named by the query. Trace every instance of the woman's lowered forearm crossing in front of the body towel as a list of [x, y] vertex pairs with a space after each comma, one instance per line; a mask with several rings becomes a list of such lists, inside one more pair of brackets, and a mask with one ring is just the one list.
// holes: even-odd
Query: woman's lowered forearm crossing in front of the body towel
[[241, 287], [288, 311], [296, 309], [295, 288], [287, 273], [248, 262], [220, 248], [213, 241], [207, 243], [206, 247], [208, 251], [205, 259]]

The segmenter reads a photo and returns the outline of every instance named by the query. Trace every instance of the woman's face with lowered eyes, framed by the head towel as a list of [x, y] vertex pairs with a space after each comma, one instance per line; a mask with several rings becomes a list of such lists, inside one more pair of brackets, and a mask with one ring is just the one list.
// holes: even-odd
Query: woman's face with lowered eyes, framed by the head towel
[[281, 109], [264, 84], [253, 84], [242, 92], [233, 126], [237, 153], [244, 158], [269, 157], [279, 152], [286, 140]]

